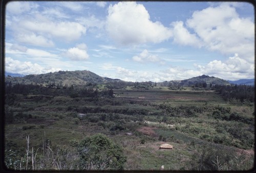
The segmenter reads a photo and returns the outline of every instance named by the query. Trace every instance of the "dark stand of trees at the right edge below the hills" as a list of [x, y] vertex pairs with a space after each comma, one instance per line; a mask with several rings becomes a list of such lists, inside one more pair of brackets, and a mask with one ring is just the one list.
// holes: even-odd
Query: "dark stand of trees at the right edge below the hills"
[[241, 102], [254, 102], [254, 86], [251, 85], [215, 85], [214, 90], [218, 91], [225, 101], [232, 99]]

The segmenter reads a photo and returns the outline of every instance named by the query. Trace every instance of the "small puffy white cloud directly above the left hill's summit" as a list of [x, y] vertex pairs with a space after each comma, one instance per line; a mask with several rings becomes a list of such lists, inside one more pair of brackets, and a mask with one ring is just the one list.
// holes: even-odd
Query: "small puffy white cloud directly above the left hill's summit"
[[71, 60], [88, 60], [89, 55], [86, 51], [86, 44], [79, 44], [77, 47], [70, 48], [65, 55]]

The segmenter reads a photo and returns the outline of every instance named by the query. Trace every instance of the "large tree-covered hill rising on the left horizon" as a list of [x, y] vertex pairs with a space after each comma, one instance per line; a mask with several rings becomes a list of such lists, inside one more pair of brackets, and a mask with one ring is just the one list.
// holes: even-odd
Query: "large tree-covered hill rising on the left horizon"
[[24, 77], [6, 77], [6, 83], [24, 83], [24, 84], [54, 84], [54, 85], [84, 85], [91, 83], [105, 83], [110, 81], [121, 81], [120, 79], [111, 79], [101, 77], [88, 70], [83, 71], [58, 71], [39, 75], [27, 75]]

